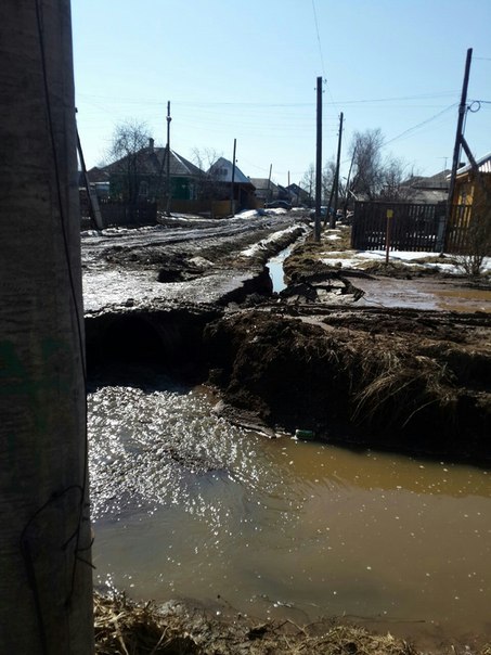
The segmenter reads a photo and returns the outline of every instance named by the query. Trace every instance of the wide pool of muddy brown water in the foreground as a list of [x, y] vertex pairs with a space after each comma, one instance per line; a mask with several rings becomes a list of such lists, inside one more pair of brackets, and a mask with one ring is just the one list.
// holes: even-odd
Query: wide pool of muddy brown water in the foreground
[[100, 587], [431, 643], [489, 634], [487, 470], [268, 439], [212, 404], [164, 377], [90, 393]]

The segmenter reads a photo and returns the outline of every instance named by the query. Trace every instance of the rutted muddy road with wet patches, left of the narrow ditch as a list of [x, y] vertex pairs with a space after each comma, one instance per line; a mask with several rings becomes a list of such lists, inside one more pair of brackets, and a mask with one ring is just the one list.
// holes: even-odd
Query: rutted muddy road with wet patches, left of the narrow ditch
[[268, 257], [306, 230], [290, 216], [272, 215], [215, 221], [178, 218], [154, 228], [87, 232], [86, 313], [176, 301], [225, 305], [255, 288], [269, 293]]

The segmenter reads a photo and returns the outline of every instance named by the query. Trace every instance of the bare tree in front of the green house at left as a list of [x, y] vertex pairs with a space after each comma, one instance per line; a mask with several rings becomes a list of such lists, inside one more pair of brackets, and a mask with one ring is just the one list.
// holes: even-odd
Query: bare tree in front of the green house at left
[[130, 119], [116, 126], [107, 156], [113, 159], [111, 171], [117, 179], [117, 194], [133, 204], [138, 200], [142, 164], [148, 151], [148, 128], [145, 123]]

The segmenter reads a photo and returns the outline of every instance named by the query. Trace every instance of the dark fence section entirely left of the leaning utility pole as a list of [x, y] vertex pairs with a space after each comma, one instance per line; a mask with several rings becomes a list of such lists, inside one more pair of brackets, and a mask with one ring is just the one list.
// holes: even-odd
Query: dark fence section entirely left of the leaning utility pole
[[[391, 218], [387, 213], [391, 211]], [[357, 202], [351, 246], [359, 251], [440, 252], [443, 246], [445, 206], [412, 203]], [[389, 230], [388, 230], [389, 228]]]

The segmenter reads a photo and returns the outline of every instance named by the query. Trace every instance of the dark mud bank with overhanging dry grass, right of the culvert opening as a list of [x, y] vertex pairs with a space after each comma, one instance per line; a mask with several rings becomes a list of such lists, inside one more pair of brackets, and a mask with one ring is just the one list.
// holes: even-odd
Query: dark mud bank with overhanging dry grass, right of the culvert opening
[[204, 346], [235, 420], [489, 460], [490, 333], [478, 314], [283, 306], [212, 322]]

